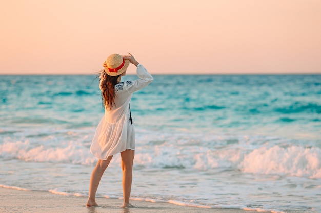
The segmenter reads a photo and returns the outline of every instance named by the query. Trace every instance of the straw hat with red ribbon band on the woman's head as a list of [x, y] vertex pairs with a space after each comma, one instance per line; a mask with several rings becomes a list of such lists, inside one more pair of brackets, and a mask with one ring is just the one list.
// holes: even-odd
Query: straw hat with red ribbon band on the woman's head
[[117, 53], [108, 56], [103, 64], [105, 73], [109, 76], [118, 76], [124, 73], [129, 66], [129, 60]]

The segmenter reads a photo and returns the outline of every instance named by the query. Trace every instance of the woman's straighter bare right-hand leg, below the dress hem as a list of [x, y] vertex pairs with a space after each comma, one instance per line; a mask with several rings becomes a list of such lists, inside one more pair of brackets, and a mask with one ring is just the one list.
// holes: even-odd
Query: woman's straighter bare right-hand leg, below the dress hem
[[122, 170], [123, 170], [123, 194], [124, 204], [123, 208], [131, 207], [129, 204], [129, 197], [131, 191], [131, 183], [133, 179], [133, 161], [134, 161], [135, 150], [127, 149], [121, 152], [122, 156]]

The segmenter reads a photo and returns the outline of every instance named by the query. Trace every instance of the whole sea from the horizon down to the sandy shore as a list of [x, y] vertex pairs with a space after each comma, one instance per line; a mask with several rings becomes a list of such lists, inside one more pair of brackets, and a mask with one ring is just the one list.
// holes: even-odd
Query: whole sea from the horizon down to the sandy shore
[[[88, 196], [95, 77], [0, 76], [0, 187]], [[321, 212], [321, 75], [153, 77], [131, 101], [132, 200]], [[122, 199], [119, 154], [97, 196]]]

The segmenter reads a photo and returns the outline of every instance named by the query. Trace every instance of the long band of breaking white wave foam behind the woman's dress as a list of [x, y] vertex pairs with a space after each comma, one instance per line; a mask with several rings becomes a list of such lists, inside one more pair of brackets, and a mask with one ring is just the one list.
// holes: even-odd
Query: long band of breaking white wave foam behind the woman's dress
[[[252, 174], [321, 178], [321, 149], [318, 147], [285, 144], [282, 139], [248, 135], [178, 132], [159, 137], [157, 132], [144, 130], [144, 134], [139, 134], [140, 131], [134, 159], [137, 168], [186, 168], [196, 171], [225, 168]], [[72, 131], [68, 131], [67, 135], [71, 139], [74, 137]], [[51, 140], [58, 139], [51, 136]], [[53, 146], [52, 142], [41, 144], [39, 140], [12, 141], [6, 138], [0, 144], [0, 156], [33, 162], [93, 165], [97, 159], [90, 153], [89, 145], [88, 137], [83, 141], [70, 140], [60, 146]], [[119, 155], [114, 156], [114, 162], [121, 162]]]

